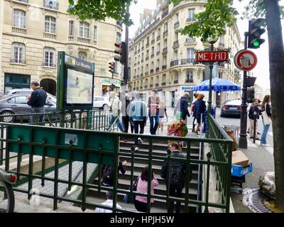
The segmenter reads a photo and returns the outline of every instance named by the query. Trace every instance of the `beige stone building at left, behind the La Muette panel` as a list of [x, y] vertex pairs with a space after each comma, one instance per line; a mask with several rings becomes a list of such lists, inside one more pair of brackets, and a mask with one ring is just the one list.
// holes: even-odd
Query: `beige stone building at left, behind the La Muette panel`
[[80, 21], [67, 13], [68, 0], [0, 0], [0, 92], [40, 82], [56, 94], [58, 51], [95, 64], [94, 95], [107, 95], [111, 82], [121, 87], [121, 67], [111, 79], [114, 43], [122, 24], [114, 19]]

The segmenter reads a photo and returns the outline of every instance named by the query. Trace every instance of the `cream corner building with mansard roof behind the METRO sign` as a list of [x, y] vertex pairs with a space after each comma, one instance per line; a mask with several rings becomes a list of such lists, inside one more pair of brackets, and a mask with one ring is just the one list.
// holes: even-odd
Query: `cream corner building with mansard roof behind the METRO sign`
[[[177, 33], [195, 21], [195, 13], [204, 10], [205, 1], [182, 1], [168, 4], [157, 0], [154, 11], [145, 9], [141, 23], [129, 45], [131, 77], [129, 90], [139, 91], [147, 99], [152, 89], [157, 89], [166, 106], [175, 106], [178, 97], [190, 92], [190, 87], [209, 79], [209, 69], [193, 65], [195, 49], [209, 48], [200, 38], [186, 37]], [[227, 28], [226, 35], [215, 43], [216, 48], [231, 48], [231, 64], [214, 67], [214, 77], [240, 84], [239, 71], [234, 66], [234, 55], [239, 50], [241, 38], [236, 26]], [[204, 92], [208, 96], [208, 92]], [[193, 92], [190, 92], [191, 97]], [[213, 92], [213, 104], [228, 99], [238, 99], [240, 92]]]

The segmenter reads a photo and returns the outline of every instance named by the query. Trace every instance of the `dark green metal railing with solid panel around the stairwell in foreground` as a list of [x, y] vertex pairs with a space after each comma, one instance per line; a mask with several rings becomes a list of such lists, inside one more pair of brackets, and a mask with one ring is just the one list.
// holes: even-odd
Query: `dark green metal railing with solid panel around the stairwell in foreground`
[[[47, 125], [48, 126], [48, 125]], [[180, 201], [185, 212], [190, 211], [190, 206], [203, 206], [204, 212], [208, 212], [209, 207], [215, 207], [219, 209], [225, 209], [229, 212], [229, 196], [230, 196], [230, 177], [231, 177], [231, 148], [232, 140], [226, 135], [224, 130], [218, 126], [212, 116], [209, 116], [209, 137], [210, 138], [180, 138], [169, 136], [153, 136], [153, 135], [136, 135], [127, 133], [116, 133], [107, 131], [94, 131], [94, 130], [80, 130], [72, 128], [57, 128], [47, 126], [32, 126], [18, 123], [0, 123], [1, 135], [0, 135], [0, 165], [2, 165], [3, 154], [5, 153], [5, 169], [8, 172], [13, 172], [20, 177], [28, 178], [28, 190], [19, 189], [15, 187], [16, 192], [23, 192], [28, 194], [28, 199], [31, 198], [30, 190], [33, 188], [33, 179], [41, 179], [44, 182], [51, 181], [54, 184], [53, 194], [40, 193], [40, 196], [53, 199], [53, 209], [58, 208], [58, 201], [69, 201], [74, 204], [79, 204], [84, 211], [87, 206], [100, 207], [103, 209], [110, 209], [114, 212], [132, 212], [132, 209], [118, 209], [116, 207], [117, 197], [121, 194], [130, 193], [131, 195], [146, 196], [148, 201], [148, 212], [151, 210], [151, 199], [159, 199], [168, 204], [170, 201]], [[63, 143], [64, 136], [66, 134], [77, 135], [77, 141], [70, 140], [68, 144]], [[49, 135], [52, 135], [50, 138]], [[148, 145], [148, 153], [143, 154], [139, 151], [129, 150], [124, 152], [119, 150], [120, 138], [129, 138], [134, 140], [136, 136], [139, 136], [144, 140], [144, 144]], [[153, 146], [155, 143], [163, 142], [167, 143], [169, 140], [175, 140], [186, 144], [186, 157], [176, 158], [170, 157], [166, 150], [163, 155], [154, 155]], [[209, 143], [212, 147], [211, 152], [207, 153], [207, 159], [202, 160], [193, 159], [191, 157], [192, 147], [195, 143]], [[10, 166], [10, 153], [16, 153], [17, 168], [16, 171], [11, 171]], [[21, 172], [21, 156], [28, 155], [28, 174]], [[42, 172], [37, 175], [33, 172], [33, 157], [35, 155], [42, 156]], [[45, 176], [45, 158], [53, 157], [55, 159], [55, 175], [54, 177]], [[151, 176], [153, 172], [153, 160], [161, 160], [163, 162], [179, 161], [186, 164], [185, 175], [185, 196], [177, 198], [170, 196], [169, 192], [166, 195], [151, 194], [151, 179], [148, 179], [148, 193], [142, 194], [133, 192], [130, 190], [119, 187], [118, 184], [118, 172], [114, 172], [114, 186], [104, 187], [99, 179], [102, 179], [102, 165], [114, 165], [114, 168], [118, 168], [119, 157], [129, 157], [131, 160], [131, 179], [129, 185], [135, 182], [133, 167], [136, 163], [136, 158], [143, 158], [148, 160], [148, 175]], [[69, 163], [69, 179], [64, 180], [58, 177], [58, 164], [59, 160], [67, 160]], [[72, 162], [82, 162], [82, 182], [72, 181]], [[97, 164], [97, 181], [94, 183], [87, 182], [87, 163]], [[190, 165], [202, 165], [206, 171], [206, 182], [204, 182], [205, 196], [204, 198], [192, 198], [190, 196]], [[215, 169], [217, 171], [217, 186], [221, 200], [218, 202], [209, 200], [209, 182], [210, 171]], [[170, 175], [170, 168], [168, 168], [168, 175]], [[169, 177], [168, 177], [169, 178]], [[168, 179], [169, 181], [169, 179]], [[58, 196], [58, 184], [67, 184], [69, 188], [73, 185], [77, 185], [82, 189], [82, 196], [80, 199], [70, 199], [64, 196]], [[169, 182], [168, 182], [169, 185]], [[114, 193], [113, 206], [104, 206], [94, 201], [87, 201], [87, 190], [94, 189], [97, 192], [111, 191]]]

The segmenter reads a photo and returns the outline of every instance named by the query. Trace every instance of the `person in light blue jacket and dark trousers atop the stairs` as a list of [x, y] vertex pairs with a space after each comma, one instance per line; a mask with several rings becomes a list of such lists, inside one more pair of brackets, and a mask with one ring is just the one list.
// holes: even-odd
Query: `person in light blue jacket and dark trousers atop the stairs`
[[[134, 133], [143, 134], [144, 127], [146, 126], [147, 121], [147, 108], [145, 101], [141, 100], [141, 96], [139, 93], [136, 93], [136, 99], [131, 102], [129, 117], [130, 121], [133, 122]], [[136, 151], [138, 150], [138, 140], [142, 142], [141, 138], [134, 138], [134, 146]]]

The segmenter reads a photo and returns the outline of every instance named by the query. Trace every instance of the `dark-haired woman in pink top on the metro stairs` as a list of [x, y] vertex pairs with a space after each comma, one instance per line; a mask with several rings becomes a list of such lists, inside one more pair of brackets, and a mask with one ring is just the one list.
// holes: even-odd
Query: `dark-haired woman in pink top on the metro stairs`
[[[154, 194], [154, 187], [159, 185], [158, 180], [155, 178], [152, 172], [152, 182], [151, 182], [151, 194]], [[148, 167], [142, 170], [141, 176], [138, 179], [136, 192], [148, 193]], [[151, 198], [151, 206], [154, 203], [154, 199]], [[146, 196], [136, 196], [134, 199], [134, 205], [137, 211], [147, 212], [147, 197]]]

